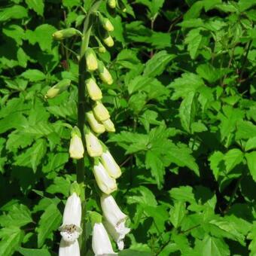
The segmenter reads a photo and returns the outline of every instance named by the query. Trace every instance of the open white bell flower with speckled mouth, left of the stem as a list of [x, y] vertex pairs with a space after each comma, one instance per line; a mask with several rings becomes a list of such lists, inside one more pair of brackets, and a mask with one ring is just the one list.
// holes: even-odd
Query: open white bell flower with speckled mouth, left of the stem
[[74, 242], [80, 236], [81, 230], [81, 200], [73, 193], [66, 202], [62, 225], [59, 227], [65, 242]]

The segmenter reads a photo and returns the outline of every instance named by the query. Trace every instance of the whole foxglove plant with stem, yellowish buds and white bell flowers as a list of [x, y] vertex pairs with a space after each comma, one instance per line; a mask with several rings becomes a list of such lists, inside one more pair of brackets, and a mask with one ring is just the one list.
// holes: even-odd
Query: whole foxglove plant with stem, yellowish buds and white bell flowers
[[[114, 133], [115, 127], [111, 120], [108, 109], [103, 105], [102, 90], [99, 87], [97, 77], [108, 85], [113, 84], [111, 73], [104, 63], [97, 59], [96, 47], [89, 47], [90, 36], [96, 39], [99, 53], [105, 53], [107, 47], [114, 46], [110, 32], [114, 30], [113, 24], [105, 17], [105, 14], [97, 11], [102, 0], [94, 0], [84, 20], [83, 32], [75, 28], [62, 29], [53, 33], [53, 38], [62, 41], [72, 36], [81, 36], [81, 51], [79, 60], [78, 75], [78, 126], [72, 129], [69, 146], [70, 157], [77, 160], [77, 189], [72, 191], [68, 198], [63, 214], [63, 223], [59, 227], [62, 236], [59, 245], [60, 256], [79, 256], [86, 254], [84, 245], [86, 236], [82, 230], [85, 229], [85, 194], [84, 194], [84, 157], [92, 157], [93, 175], [99, 190], [102, 190], [101, 206], [104, 216], [104, 223], [119, 249], [123, 249], [123, 239], [130, 229], [125, 227], [126, 215], [120, 211], [117, 203], [110, 194], [117, 190], [116, 178], [121, 175], [120, 167], [114, 157], [98, 139], [98, 136], [105, 131]], [[120, 0], [105, 0], [108, 8], [114, 11]], [[97, 29], [94, 29], [96, 25]], [[102, 44], [105, 44], [105, 46]], [[96, 74], [93, 74], [96, 72]], [[45, 99], [51, 99], [62, 93], [69, 87], [70, 81], [62, 81], [48, 90]], [[86, 152], [84, 149], [86, 148]], [[78, 193], [77, 193], [78, 192]], [[82, 202], [81, 202], [82, 201]], [[99, 214], [98, 214], [99, 215]], [[111, 246], [108, 233], [102, 224], [102, 219], [96, 218], [93, 221], [93, 251], [96, 255], [116, 254]], [[79, 237], [80, 236], [80, 237]], [[79, 239], [78, 239], [79, 238]], [[78, 241], [80, 245], [78, 245]]]

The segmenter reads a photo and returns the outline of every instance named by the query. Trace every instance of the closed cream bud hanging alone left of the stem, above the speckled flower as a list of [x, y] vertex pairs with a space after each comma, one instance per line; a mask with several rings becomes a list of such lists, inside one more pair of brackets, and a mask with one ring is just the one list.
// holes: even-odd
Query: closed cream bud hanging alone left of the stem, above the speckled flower
[[69, 145], [69, 155], [74, 159], [81, 159], [84, 157], [84, 146], [81, 139], [81, 133], [77, 126], [75, 126], [71, 133], [71, 140]]

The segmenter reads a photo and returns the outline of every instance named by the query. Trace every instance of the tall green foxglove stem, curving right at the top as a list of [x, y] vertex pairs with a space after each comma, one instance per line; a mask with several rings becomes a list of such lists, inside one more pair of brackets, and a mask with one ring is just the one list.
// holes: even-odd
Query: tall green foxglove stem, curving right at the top
[[[85, 60], [85, 51], [87, 50], [87, 47], [89, 45], [90, 41], [90, 32], [93, 26], [92, 23], [92, 13], [95, 12], [98, 8], [102, 0], [93, 2], [93, 5], [90, 8], [90, 11], [88, 12], [88, 15], [84, 21], [84, 29], [83, 29], [83, 39], [81, 42], [81, 54], [80, 54], [80, 60], [79, 60], [79, 78], [78, 78], [78, 128], [81, 131], [82, 136], [82, 142], [84, 144], [85, 148], [85, 139], [84, 139], [84, 123], [85, 123], [85, 109], [89, 106], [86, 105], [85, 101], [85, 78], [87, 75], [86, 72], [86, 60]], [[81, 255], [86, 254], [86, 225], [85, 225], [85, 212], [86, 212], [86, 206], [85, 206], [85, 193], [84, 193], [84, 186], [85, 186], [85, 168], [84, 168], [84, 158], [78, 160], [77, 163], [77, 181], [78, 184], [83, 188], [82, 194], [81, 194], [81, 204], [82, 204], [82, 229], [83, 234], [80, 236], [79, 242], [80, 242], [80, 248], [81, 248]]]

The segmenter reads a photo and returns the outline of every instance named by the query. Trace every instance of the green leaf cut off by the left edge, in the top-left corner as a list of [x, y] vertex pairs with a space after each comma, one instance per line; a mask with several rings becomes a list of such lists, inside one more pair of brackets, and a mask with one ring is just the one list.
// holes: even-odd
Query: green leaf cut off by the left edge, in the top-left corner
[[28, 17], [28, 11], [21, 5], [14, 5], [10, 8], [3, 8], [0, 11], [0, 22], [11, 19], [23, 19]]

